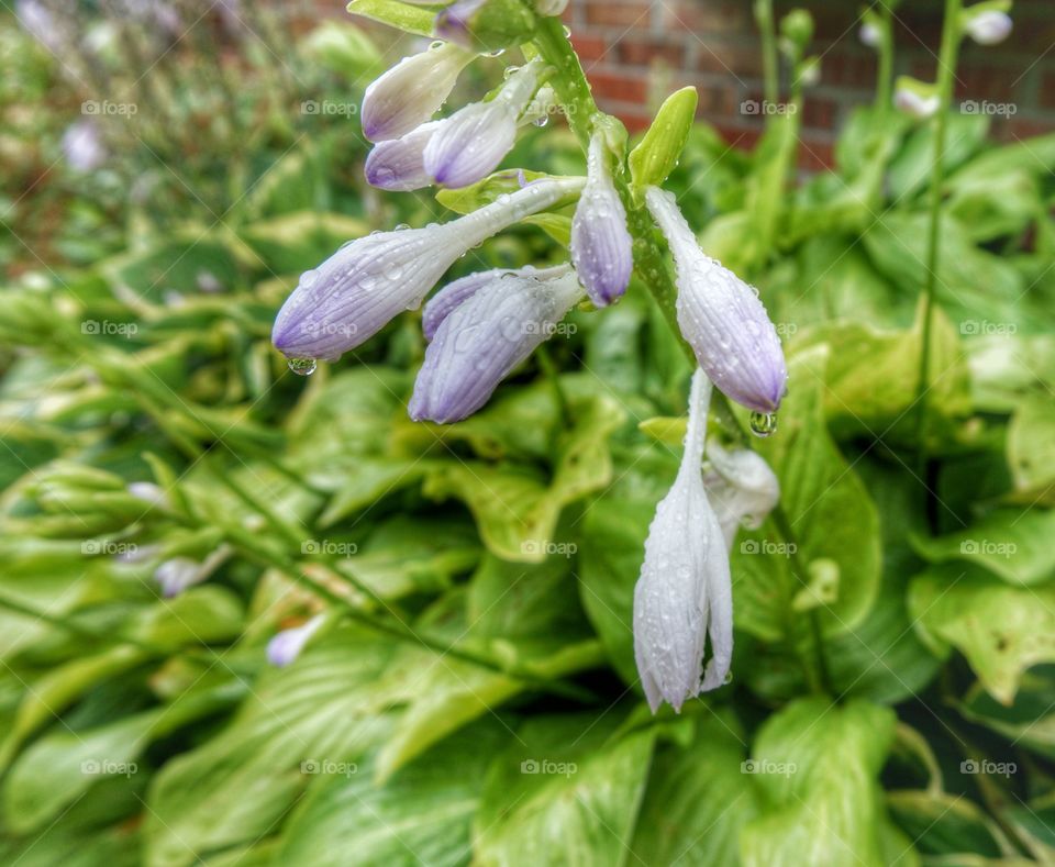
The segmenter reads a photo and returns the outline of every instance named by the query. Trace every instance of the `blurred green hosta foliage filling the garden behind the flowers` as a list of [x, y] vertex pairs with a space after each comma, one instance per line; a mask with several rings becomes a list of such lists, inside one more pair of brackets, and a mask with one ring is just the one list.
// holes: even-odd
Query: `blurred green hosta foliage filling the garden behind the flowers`
[[[863, 108], [804, 178], [795, 113], [752, 153], [693, 131], [671, 186], [785, 337], [756, 445], [793, 536], [742, 531], [735, 677], [653, 720], [632, 590], [689, 369], [648, 293], [456, 425], [406, 416], [414, 313], [293, 376], [299, 273], [446, 215], [360, 179], [400, 52], [160, 5], [0, 23], [0, 859], [1055, 858], [1055, 136], [951, 119], [921, 421], [930, 126]], [[508, 164], [582, 166], [558, 122]], [[456, 270], [564, 256], [523, 226]]]

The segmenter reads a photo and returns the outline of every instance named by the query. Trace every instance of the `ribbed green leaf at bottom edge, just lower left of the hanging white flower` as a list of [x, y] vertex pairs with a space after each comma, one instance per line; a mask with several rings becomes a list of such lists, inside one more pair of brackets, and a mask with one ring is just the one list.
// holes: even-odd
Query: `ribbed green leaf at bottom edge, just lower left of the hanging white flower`
[[[608, 716], [613, 716], [610, 713]], [[535, 716], [491, 767], [474, 863], [622, 867], [655, 734], [614, 733], [607, 716]]]

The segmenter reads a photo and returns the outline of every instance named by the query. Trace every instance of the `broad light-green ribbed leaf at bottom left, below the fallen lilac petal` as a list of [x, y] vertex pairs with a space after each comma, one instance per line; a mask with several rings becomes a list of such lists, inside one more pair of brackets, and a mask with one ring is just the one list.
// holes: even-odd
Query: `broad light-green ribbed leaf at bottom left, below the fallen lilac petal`
[[388, 732], [401, 685], [382, 681], [390, 642], [331, 633], [269, 670], [229, 725], [155, 776], [145, 863], [176, 867], [274, 829], [318, 772], [356, 762]]

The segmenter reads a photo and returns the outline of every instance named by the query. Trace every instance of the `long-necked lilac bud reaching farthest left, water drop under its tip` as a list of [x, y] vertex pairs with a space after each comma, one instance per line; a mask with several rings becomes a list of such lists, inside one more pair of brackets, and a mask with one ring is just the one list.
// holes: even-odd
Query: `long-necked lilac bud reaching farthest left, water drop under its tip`
[[275, 348], [293, 359], [341, 357], [401, 311], [417, 309], [459, 256], [580, 184], [542, 180], [449, 223], [377, 232], [341, 247], [301, 275], [275, 319]]

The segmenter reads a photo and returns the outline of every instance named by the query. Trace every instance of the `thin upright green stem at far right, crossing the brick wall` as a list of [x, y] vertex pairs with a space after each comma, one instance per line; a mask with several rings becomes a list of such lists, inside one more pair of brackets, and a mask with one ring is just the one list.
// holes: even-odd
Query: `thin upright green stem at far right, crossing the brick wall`
[[917, 385], [917, 469], [922, 479], [926, 469], [928, 391], [931, 379], [931, 333], [937, 293], [937, 269], [941, 266], [942, 187], [945, 181], [945, 141], [948, 135], [948, 112], [959, 53], [962, 0], [945, 0], [942, 49], [937, 60], [939, 108], [934, 119], [934, 165], [931, 170], [931, 213], [926, 249], [926, 282], [923, 287], [923, 345], [920, 348], [920, 373]]

